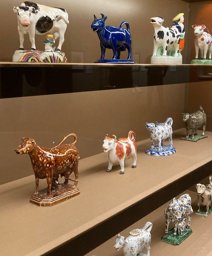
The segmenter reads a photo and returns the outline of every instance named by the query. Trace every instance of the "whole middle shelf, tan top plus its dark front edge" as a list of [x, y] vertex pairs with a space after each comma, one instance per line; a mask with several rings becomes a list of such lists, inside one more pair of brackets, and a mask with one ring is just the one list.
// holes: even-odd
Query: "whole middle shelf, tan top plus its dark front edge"
[[80, 195], [52, 207], [29, 203], [34, 175], [1, 185], [1, 255], [85, 255], [209, 176], [212, 132], [196, 143], [180, 140], [185, 132], [174, 131], [172, 156], [148, 156], [150, 139], [139, 141], [137, 168], [127, 160], [124, 175], [118, 164], [106, 172], [106, 153], [80, 160]]

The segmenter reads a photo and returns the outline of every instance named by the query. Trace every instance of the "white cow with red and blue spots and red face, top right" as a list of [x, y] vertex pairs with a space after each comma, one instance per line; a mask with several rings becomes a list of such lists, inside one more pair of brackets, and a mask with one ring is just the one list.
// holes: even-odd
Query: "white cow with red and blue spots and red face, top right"
[[[195, 51], [196, 59], [198, 59], [198, 53], [200, 49], [201, 59], [206, 59], [207, 52], [209, 52], [209, 59], [211, 59], [212, 53], [212, 36], [209, 34], [209, 30], [205, 25], [192, 25], [194, 29], [195, 38]], [[206, 30], [207, 32], [204, 32]]]

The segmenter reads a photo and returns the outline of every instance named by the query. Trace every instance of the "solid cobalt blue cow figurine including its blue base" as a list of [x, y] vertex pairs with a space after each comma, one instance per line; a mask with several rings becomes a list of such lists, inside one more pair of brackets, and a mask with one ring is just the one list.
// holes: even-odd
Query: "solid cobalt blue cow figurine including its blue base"
[[[101, 19], [97, 19], [94, 15], [94, 21], [91, 24], [93, 32], [97, 32], [101, 47], [101, 58], [95, 61], [95, 63], [135, 63], [135, 61], [131, 59], [132, 39], [129, 23], [123, 21], [119, 28], [114, 26], [105, 27], [105, 20], [107, 19], [107, 16], [104, 14], [101, 15]], [[124, 24], [126, 25], [126, 28], [122, 28]], [[106, 48], [112, 49], [112, 59], [105, 59]], [[127, 60], [120, 59], [121, 51], [125, 51], [126, 49], [128, 50]]]

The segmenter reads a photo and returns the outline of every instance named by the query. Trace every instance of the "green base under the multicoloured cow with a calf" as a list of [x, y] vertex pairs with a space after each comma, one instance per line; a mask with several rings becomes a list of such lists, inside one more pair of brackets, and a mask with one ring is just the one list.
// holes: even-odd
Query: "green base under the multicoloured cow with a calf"
[[173, 237], [174, 234], [174, 228], [171, 229], [170, 231], [168, 231], [168, 237], [163, 236], [161, 237], [161, 240], [163, 242], [166, 242], [168, 244], [173, 244], [173, 245], [179, 245], [181, 244], [187, 237], [189, 237], [192, 234], [192, 230], [189, 229], [185, 229], [183, 231], [182, 235], [178, 235], [178, 231], [177, 231], [177, 237]]

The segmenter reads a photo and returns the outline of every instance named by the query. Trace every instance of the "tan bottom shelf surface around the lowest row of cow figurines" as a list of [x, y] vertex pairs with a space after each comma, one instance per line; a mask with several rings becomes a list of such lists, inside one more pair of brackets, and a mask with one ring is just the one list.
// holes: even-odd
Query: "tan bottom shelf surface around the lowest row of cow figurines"
[[[153, 228], [150, 232], [152, 236], [150, 244], [151, 256], [198, 256], [200, 254], [211, 256], [212, 215], [209, 215], [208, 218], [196, 215], [195, 212], [197, 211], [197, 193], [190, 190], [186, 190], [184, 193], [188, 193], [191, 196], [193, 208], [191, 217], [191, 229], [193, 233], [180, 245], [171, 245], [161, 241], [161, 237], [165, 233], [164, 210], [168, 202], [144, 218], [140, 219], [127, 229], [120, 231], [120, 234], [127, 237], [132, 229], [142, 228], [147, 221], [151, 221], [153, 223]], [[172, 228], [173, 225], [170, 224], [169, 230]], [[124, 254], [122, 249], [117, 252], [113, 247], [115, 245], [115, 239], [116, 237], [112, 237], [101, 246], [87, 253], [85, 256], [123, 256]], [[147, 253], [145, 248], [143, 249], [142, 253]]]

